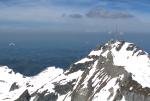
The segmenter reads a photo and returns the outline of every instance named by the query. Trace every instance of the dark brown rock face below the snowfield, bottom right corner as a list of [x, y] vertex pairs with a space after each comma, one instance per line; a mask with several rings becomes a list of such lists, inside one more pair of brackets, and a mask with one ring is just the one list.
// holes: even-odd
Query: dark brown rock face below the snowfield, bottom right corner
[[139, 83], [132, 79], [132, 75], [119, 81], [119, 85], [120, 90], [118, 94], [124, 96], [126, 101], [150, 101], [150, 88], [143, 88]]

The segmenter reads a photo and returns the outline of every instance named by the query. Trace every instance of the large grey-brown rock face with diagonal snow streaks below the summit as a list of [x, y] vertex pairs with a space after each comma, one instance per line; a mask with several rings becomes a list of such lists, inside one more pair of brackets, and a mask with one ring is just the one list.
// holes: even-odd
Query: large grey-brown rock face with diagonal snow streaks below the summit
[[[115, 77], [118, 77], [119, 75], [125, 74], [128, 75], [128, 73], [121, 67], [121, 66], [115, 66], [113, 64], [113, 57], [111, 53], [108, 53], [107, 58], [100, 56], [98, 59], [97, 66], [95, 67], [96, 70], [94, 71], [93, 75], [89, 78], [87, 81], [87, 87], [84, 88], [83, 85], [86, 78], [88, 78], [88, 74], [92, 70], [93, 67], [90, 69], [87, 69], [82, 74], [82, 78], [80, 82], [78, 83], [75, 91], [72, 93], [72, 101], [92, 101], [94, 96], [100, 92], [100, 90], [103, 89], [104, 86], [109, 83], [109, 81]], [[94, 78], [99, 78], [99, 82], [97, 85], [94, 86], [95, 82]], [[105, 79], [104, 79], [105, 78]], [[117, 83], [117, 81], [116, 81]], [[97, 89], [95, 87], [97, 86]], [[94, 91], [96, 90], [96, 91]], [[113, 88], [109, 89], [109, 92], [111, 93], [108, 96], [108, 100], [113, 96], [114, 91]], [[117, 96], [117, 95], [116, 95]], [[122, 96], [120, 94], [120, 96]], [[120, 97], [119, 96], [119, 97]], [[122, 97], [119, 99], [121, 100]], [[118, 96], [115, 98], [118, 99]]]

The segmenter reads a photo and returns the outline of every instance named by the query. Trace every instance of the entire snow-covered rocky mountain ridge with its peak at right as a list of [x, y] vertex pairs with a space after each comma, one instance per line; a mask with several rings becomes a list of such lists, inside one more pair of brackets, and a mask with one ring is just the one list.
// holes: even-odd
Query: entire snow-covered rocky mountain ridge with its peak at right
[[135, 44], [108, 41], [66, 71], [33, 77], [0, 67], [0, 101], [150, 101], [150, 57]]

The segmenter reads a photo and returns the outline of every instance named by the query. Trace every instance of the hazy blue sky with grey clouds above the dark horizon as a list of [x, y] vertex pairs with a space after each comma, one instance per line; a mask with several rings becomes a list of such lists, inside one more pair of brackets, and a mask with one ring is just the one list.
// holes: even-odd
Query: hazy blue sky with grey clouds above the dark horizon
[[0, 31], [150, 32], [150, 0], [0, 0]]

